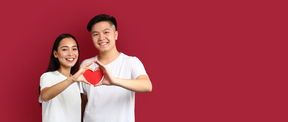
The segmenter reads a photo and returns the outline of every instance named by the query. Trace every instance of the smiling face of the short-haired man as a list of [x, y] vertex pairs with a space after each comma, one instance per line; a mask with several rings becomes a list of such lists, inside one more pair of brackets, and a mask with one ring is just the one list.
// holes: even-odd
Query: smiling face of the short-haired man
[[117, 50], [115, 41], [117, 40], [118, 32], [115, 30], [115, 25], [111, 25], [106, 21], [95, 23], [91, 29], [91, 36], [94, 46], [99, 52]]

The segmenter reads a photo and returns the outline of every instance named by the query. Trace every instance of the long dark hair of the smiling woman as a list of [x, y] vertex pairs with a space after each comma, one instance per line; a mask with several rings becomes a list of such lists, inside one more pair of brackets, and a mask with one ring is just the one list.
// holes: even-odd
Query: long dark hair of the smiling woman
[[[59, 63], [59, 60], [58, 58], [55, 58], [54, 57], [54, 50], [57, 51], [58, 47], [59, 47], [59, 43], [61, 42], [61, 40], [63, 40], [64, 38], [72, 38], [75, 40], [76, 44], [77, 44], [77, 50], [78, 50], [78, 54], [79, 54], [79, 46], [78, 46], [78, 43], [77, 43], [77, 40], [75, 39], [74, 36], [72, 36], [71, 34], [62, 34], [60, 35], [59, 37], [56, 38], [54, 44], [53, 44], [53, 47], [52, 47], [52, 51], [51, 51], [51, 55], [50, 55], [50, 62], [49, 62], [49, 65], [48, 65], [48, 68], [47, 68], [47, 71], [46, 72], [54, 72], [56, 70], [61, 70], [61, 67], [60, 67], [60, 63]], [[78, 59], [77, 59], [77, 62], [76, 64], [71, 67], [71, 71], [70, 71], [70, 74], [74, 74], [76, 73], [76, 69], [78, 68], [79, 66], [79, 55], [78, 55]], [[39, 85], [39, 95], [40, 95], [40, 92], [41, 92], [41, 88], [40, 88], [40, 85]], [[40, 103], [40, 106], [41, 106], [41, 103]]]

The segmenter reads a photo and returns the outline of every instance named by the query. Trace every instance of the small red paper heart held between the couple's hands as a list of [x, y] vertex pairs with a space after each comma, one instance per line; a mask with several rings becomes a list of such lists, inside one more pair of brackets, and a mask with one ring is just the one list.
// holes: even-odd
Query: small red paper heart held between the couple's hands
[[83, 76], [88, 82], [95, 85], [102, 81], [103, 72], [101, 70], [96, 70], [94, 72], [92, 72], [91, 70], [86, 70]]

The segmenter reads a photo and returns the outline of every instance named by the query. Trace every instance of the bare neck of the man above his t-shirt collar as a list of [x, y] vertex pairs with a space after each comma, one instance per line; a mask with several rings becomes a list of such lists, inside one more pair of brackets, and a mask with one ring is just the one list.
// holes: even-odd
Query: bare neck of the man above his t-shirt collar
[[97, 60], [101, 62], [103, 65], [108, 65], [109, 63], [113, 62], [118, 56], [120, 52], [116, 51], [109, 51], [109, 52], [99, 52]]

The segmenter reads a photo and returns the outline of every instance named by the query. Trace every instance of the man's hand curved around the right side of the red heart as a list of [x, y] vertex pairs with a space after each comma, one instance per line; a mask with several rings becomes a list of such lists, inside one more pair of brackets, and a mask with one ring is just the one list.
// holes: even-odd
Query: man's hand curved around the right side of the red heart
[[99, 86], [99, 85], [116, 85], [116, 78], [110, 73], [109, 69], [100, 63], [98, 60], [94, 61], [99, 67], [95, 69], [96, 70], [101, 70], [103, 72], [103, 80], [102, 82], [99, 82], [95, 84], [94, 86]]

